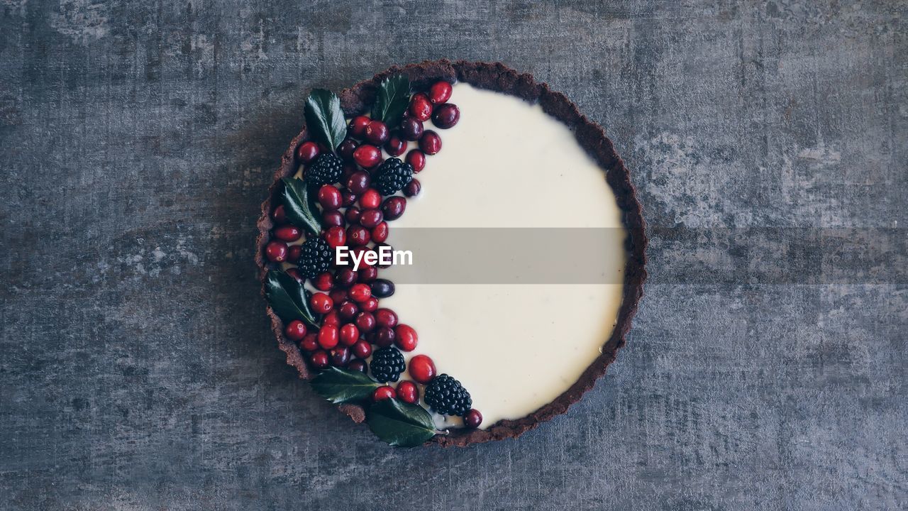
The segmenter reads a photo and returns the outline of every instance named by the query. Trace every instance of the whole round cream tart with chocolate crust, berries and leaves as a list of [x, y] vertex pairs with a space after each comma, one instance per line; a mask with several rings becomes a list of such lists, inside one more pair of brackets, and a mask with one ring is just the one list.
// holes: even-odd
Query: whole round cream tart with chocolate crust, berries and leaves
[[[279, 346], [316, 392], [391, 445], [466, 446], [565, 413], [605, 374], [642, 296], [645, 223], [611, 141], [565, 95], [441, 60], [315, 89], [304, 116], [256, 262]], [[559, 232], [606, 256], [569, 283], [420, 280], [375, 260], [489, 227], [579, 228]], [[483, 275], [481, 255], [464, 264]]]

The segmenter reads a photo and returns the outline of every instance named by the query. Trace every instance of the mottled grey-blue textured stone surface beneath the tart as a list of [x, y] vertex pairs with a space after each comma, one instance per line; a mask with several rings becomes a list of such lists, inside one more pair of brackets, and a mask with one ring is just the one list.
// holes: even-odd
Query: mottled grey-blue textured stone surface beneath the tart
[[[663, 230], [903, 240], [906, 11], [0, 0], [0, 508], [903, 508], [908, 286], [887, 275], [904, 245], [742, 260]], [[652, 277], [567, 416], [394, 450], [285, 366], [254, 220], [305, 90], [440, 57], [534, 73], [607, 126]], [[762, 255], [854, 278], [716, 278]]]

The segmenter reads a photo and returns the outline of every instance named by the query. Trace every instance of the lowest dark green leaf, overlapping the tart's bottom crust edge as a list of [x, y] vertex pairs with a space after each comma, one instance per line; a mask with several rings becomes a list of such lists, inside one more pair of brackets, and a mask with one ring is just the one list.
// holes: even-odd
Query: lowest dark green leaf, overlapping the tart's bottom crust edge
[[382, 399], [369, 408], [366, 422], [375, 436], [391, 446], [419, 446], [435, 435], [435, 423], [419, 405]]

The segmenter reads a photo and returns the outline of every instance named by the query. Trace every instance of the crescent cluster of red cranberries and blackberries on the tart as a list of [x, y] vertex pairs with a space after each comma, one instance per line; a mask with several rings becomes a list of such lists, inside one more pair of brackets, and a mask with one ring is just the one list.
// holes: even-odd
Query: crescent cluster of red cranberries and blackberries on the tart
[[[381, 298], [394, 294], [394, 284], [379, 278], [380, 268], [363, 258], [354, 271], [351, 266], [335, 264], [333, 255], [338, 246], [347, 246], [359, 258], [386, 245], [388, 223], [403, 215], [406, 197], [419, 195], [419, 180], [413, 175], [425, 168], [427, 156], [441, 150], [441, 137], [424, 123], [431, 120], [439, 129], [458, 123], [460, 111], [448, 103], [451, 91], [448, 82], [439, 81], [410, 96], [400, 125], [389, 126], [365, 115], [350, 119], [336, 154], [313, 141], [297, 147], [304, 181], [317, 190], [321, 235], [301, 241], [301, 229], [288, 223], [284, 206], [278, 205], [271, 213], [277, 226], [265, 255], [271, 262], [295, 265], [286, 273], [301, 284], [308, 279], [318, 290], [309, 297], [309, 305], [321, 315], [321, 327], [291, 321], [284, 332], [299, 343], [315, 370], [336, 366], [370, 373], [381, 383], [397, 382], [406, 369], [401, 352], [416, 349], [416, 330], [401, 324], [394, 311], [380, 307]], [[388, 158], [383, 158], [382, 149]], [[404, 196], [396, 195], [399, 192]], [[416, 404], [420, 384], [426, 386], [426, 403], [432, 409], [464, 416], [467, 426], [479, 426], [481, 415], [469, 410], [469, 393], [457, 380], [437, 376], [428, 356], [413, 356], [409, 370], [416, 383], [400, 381], [396, 389], [380, 386], [373, 398]], [[451, 398], [449, 381], [466, 397], [456, 394]], [[429, 403], [429, 396], [439, 397]]]

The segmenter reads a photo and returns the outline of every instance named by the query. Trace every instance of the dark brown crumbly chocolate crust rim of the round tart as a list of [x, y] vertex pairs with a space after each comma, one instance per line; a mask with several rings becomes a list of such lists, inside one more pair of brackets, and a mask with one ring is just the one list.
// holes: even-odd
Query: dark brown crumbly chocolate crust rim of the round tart
[[[624, 213], [627, 228], [627, 265], [625, 266], [624, 299], [618, 310], [617, 325], [602, 348], [602, 354], [590, 364], [584, 373], [561, 396], [542, 406], [528, 416], [516, 420], [501, 420], [487, 429], [451, 429], [448, 435], [436, 435], [426, 445], [469, 446], [491, 440], [516, 438], [540, 423], [548, 421], [568, 411], [568, 407], [577, 403], [581, 396], [596, 384], [596, 380], [606, 374], [609, 364], [615, 360], [618, 348], [625, 345], [625, 337], [630, 329], [631, 320], [637, 313], [637, 304], [643, 296], [643, 283], [646, 280], [646, 222], [642, 215], [642, 206], [637, 201], [634, 185], [624, 162], [616, 154], [612, 141], [608, 139], [601, 126], [580, 114], [566, 95], [555, 92], [547, 84], [537, 82], [532, 75], [521, 74], [501, 63], [466, 62], [449, 60], [426, 61], [420, 64], [393, 66], [390, 69], [364, 80], [341, 91], [341, 107], [348, 117], [369, 111], [375, 98], [375, 91], [380, 81], [389, 75], [403, 73], [410, 77], [414, 89], [424, 89], [438, 80], [451, 83], [466, 82], [470, 85], [516, 95], [531, 103], [538, 103], [548, 114], [556, 117], [574, 131], [577, 143], [591, 155], [604, 169], [608, 185], [617, 197], [618, 207]], [[255, 264], [259, 267], [264, 295], [265, 275], [270, 263], [264, 257], [264, 246], [271, 240], [271, 204], [278, 201], [282, 177], [293, 175], [297, 164], [294, 151], [308, 138], [305, 125], [299, 135], [291, 141], [290, 146], [281, 156], [281, 166], [274, 174], [274, 181], [269, 188], [268, 199], [262, 203], [262, 215], [259, 217], [259, 235], [256, 240]], [[271, 318], [271, 331], [277, 337], [278, 346], [287, 356], [287, 364], [295, 367], [302, 379], [314, 376], [300, 352], [300, 349], [283, 335], [283, 323], [267, 307]], [[354, 422], [365, 420], [365, 410], [357, 405], [338, 406]]]

